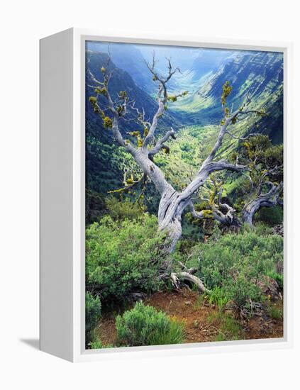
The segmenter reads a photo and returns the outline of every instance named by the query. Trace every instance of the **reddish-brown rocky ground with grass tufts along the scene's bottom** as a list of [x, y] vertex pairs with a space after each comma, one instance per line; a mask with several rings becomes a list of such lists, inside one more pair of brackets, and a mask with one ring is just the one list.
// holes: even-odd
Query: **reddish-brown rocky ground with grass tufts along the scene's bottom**
[[[241, 318], [240, 313], [232, 309], [220, 310], [204, 296], [188, 289], [157, 292], [145, 299], [145, 303], [183, 322], [184, 342], [283, 337], [283, 301], [280, 294], [268, 294], [265, 305], [248, 319]], [[115, 321], [116, 313], [104, 313], [101, 318], [98, 331], [104, 346], [116, 341]]]

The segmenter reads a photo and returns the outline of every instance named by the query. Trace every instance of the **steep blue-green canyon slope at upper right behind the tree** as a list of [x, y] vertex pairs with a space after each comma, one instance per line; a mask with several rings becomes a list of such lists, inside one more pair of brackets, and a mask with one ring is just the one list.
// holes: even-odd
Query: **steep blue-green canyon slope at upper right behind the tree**
[[[228, 107], [238, 108], [251, 96], [252, 106], [264, 108], [269, 116], [257, 118], [256, 131], [270, 135], [275, 143], [282, 142], [283, 126], [283, 61], [282, 54], [258, 52], [241, 55], [218, 69], [193, 96], [198, 112], [193, 113], [204, 121], [218, 121], [221, 118], [223, 84], [229, 81], [233, 91]], [[246, 131], [247, 133], [247, 131]]]

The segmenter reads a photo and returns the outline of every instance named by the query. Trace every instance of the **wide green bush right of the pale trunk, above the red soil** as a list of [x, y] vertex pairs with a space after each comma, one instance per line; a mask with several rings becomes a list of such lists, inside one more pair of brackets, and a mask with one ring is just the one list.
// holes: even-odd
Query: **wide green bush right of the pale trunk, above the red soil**
[[211, 302], [223, 306], [231, 300], [243, 308], [262, 301], [257, 282], [282, 261], [283, 239], [244, 230], [196, 245], [192, 252], [187, 267], [199, 269], [197, 276], [211, 289]]

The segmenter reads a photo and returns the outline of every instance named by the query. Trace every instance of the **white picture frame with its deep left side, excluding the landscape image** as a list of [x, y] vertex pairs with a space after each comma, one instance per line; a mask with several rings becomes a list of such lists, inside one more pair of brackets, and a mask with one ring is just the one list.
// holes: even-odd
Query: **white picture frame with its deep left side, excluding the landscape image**
[[[284, 338], [85, 350], [85, 41], [284, 53]], [[291, 44], [71, 28], [40, 40], [40, 350], [72, 362], [291, 347]]]

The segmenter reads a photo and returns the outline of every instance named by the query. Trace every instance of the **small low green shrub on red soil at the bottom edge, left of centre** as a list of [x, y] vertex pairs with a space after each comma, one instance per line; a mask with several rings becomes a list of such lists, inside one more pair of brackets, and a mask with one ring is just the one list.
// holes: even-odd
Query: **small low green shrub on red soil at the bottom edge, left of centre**
[[141, 302], [116, 318], [116, 330], [120, 345], [180, 344], [184, 340], [182, 324]]

